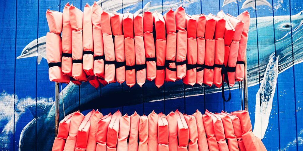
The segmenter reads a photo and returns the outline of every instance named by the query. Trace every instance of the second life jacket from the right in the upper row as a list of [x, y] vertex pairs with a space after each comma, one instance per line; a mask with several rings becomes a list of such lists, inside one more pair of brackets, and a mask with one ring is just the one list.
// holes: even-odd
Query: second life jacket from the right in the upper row
[[227, 63], [227, 67], [226, 67], [229, 85], [234, 86], [234, 84], [235, 84], [235, 67], [236, 67], [237, 58], [238, 58], [239, 41], [241, 39], [244, 22], [229, 14], [227, 14], [226, 17], [229, 19], [229, 21], [235, 28], [235, 35], [229, 46], [230, 51], [229, 51], [228, 63]]

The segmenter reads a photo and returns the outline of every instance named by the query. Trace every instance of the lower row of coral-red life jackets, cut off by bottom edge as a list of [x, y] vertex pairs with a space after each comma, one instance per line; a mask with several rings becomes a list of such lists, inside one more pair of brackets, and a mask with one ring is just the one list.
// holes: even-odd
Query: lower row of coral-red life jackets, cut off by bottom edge
[[131, 116], [76, 111], [60, 123], [52, 151], [266, 151], [247, 111], [198, 110]]

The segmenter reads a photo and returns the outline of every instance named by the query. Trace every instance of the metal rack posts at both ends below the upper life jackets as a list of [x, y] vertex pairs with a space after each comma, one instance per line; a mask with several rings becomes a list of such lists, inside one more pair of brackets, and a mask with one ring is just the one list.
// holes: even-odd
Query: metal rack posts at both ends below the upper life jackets
[[[244, 107], [248, 111], [248, 80], [247, 80], [247, 58], [244, 60], [244, 79], [243, 79], [243, 95], [244, 95]], [[55, 82], [55, 136], [58, 133], [59, 126], [59, 83]], [[242, 107], [241, 107], [242, 108]]]

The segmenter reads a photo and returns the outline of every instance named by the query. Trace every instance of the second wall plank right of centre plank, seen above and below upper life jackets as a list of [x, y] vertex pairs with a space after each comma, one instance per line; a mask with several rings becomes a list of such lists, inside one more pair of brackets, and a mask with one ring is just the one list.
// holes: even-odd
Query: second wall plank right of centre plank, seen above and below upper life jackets
[[[194, 15], [201, 14], [201, 1], [183, 2], [186, 14]], [[185, 114], [193, 114], [198, 109], [204, 111], [204, 87], [198, 84], [194, 86], [184, 85], [185, 88]]]

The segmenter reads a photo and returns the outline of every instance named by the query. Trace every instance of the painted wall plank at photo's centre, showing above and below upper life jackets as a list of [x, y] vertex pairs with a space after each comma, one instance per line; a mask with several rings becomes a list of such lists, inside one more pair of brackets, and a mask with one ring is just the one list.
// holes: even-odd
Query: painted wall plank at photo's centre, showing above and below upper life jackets
[[[151, 12], [154, 12], [157, 10], [158, 12], [162, 11], [162, 1], [161, 0], [155, 0], [155, 1], [149, 1], [149, 0], [143, 0], [143, 7], [147, 5], [147, 9]], [[148, 5], [149, 4], [149, 5]], [[150, 9], [151, 7], [157, 6], [156, 9]], [[147, 11], [147, 10], [143, 10]], [[155, 37], [154, 37], [155, 38]], [[143, 91], [144, 91], [144, 114], [148, 115], [153, 110], [155, 110], [156, 113], [160, 113], [165, 111], [164, 108], [164, 86], [161, 86], [160, 88], [157, 88], [155, 86], [155, 80], [152, 82], [146, 81], [146, 83], [143, 85]], [[156, 96], [156, 97], [155, 97]]]

